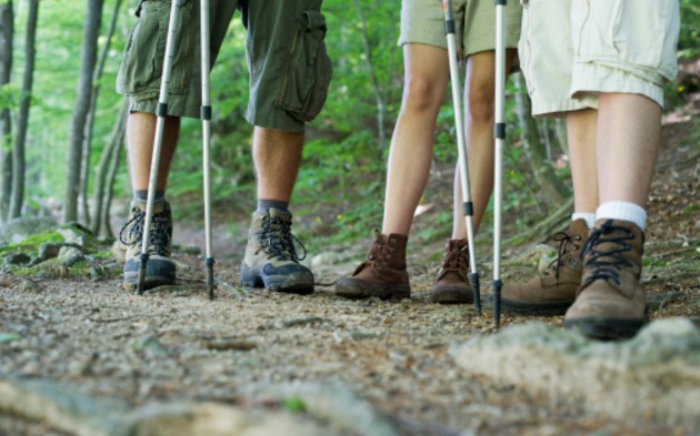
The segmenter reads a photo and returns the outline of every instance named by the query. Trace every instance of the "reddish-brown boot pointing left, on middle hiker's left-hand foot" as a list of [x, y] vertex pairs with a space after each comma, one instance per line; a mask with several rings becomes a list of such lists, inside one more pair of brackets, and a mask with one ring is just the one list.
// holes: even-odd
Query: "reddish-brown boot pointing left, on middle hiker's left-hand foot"
[[411, 296], [408, 271], [406, 271], [406, 244], [408, 236], [374, 231], [374, 243], [351, 277], [336, 283], [336, 295], [344, 298], [401, 300]]

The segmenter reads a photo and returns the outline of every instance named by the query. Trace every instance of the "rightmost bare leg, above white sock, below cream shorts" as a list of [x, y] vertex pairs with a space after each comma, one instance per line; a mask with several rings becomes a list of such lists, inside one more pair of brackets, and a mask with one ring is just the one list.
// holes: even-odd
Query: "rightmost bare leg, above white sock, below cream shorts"
[[661, 108], [639, 94], [604, 93], [598, 110], [600, 203], [646, 207], [661, 134]]

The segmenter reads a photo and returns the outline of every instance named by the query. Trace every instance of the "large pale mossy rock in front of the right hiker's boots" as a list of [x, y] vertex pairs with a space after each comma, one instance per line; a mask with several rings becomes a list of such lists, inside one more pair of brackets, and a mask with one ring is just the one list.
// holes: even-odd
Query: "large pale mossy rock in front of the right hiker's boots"
[[456, 344], [450, 353], [468, 372], [578, 412], [700, 432], [700, 331], [688, 320], [654, 321], [618, 343], [521, 324]]

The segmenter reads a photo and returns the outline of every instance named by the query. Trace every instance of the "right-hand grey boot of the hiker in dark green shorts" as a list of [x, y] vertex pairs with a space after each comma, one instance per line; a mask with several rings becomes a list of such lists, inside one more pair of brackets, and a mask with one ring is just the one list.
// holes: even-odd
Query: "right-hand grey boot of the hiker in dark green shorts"
[[[241, 263], [241, 285], [293, 294], [313, 292], [313, 274], [299, 263], [307, 250], [292, 235], [291, 219], [291, 213], [277, 209], [253, 213]], [[302, 257], [297, 255], [294, 241], [303, 250]]]

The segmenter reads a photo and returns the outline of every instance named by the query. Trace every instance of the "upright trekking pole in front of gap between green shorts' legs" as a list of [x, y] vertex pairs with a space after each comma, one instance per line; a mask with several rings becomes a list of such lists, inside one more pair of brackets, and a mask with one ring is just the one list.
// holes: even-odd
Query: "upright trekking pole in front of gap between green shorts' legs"
[[204, 233], [207, 267], [207, 291], [209, 300], [213, 300], [213, 264], [211, 255], [211, 92], [209, 87], [211, 57], [209, 51], [209, 0], [200, 4], [201, 73], [202, 73], [202, 165], [204, 174]]

